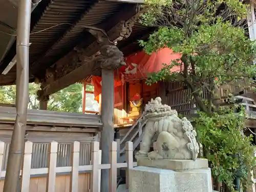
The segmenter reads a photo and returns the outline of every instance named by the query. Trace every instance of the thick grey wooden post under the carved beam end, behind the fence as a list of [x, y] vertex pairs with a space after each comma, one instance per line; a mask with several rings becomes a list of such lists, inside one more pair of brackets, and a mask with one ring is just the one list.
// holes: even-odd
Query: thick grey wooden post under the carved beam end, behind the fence
[[[100, 137], [102, 164], [109, 163], [110, 144], [114, 140], [114, 69], [102, 69], [101, 120], [103, 131]], [[109, 170], [101, 170], [101, 192], [109, 191]], [[93, 191], [94, 192], [94, 191]], [[111, 191], [109, 191], [111, 192]]]

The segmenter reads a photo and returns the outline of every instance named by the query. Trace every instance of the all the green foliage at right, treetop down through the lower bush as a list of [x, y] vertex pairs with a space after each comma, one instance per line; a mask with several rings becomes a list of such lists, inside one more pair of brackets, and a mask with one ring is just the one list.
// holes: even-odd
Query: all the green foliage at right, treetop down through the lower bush
[[[254, 163], [250, 138], [243, 136], [244, 116], [224, 111], [214, 102], [220, 86], [247, 88], [255, 76], [254, 42], [246, 36], [248, 5], [239, 0], [146, 0], [141, 24], [158, 27], [147, 41], [140, 40], [146, 53], [170, 48], [181, 57], [147, 78], [179, 81], [191, 90], [199, 110], [196, 120], [200, 141], [208, 150], [212, 174], [233, 190], [234, 172], [240, 159]], [[171, 72], [174, 66], [179, 71]], [[207, 95], [203, 94], [206, 90]], [[239, 154], [240, 158], [232, 157]], [[241, 178], [246, 176], [246, 172]]]

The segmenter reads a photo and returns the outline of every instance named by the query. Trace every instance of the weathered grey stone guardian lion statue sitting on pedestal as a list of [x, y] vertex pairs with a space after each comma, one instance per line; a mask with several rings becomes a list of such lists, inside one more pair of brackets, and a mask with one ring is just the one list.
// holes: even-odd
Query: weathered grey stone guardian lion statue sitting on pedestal
[[[196, 131], [186, 117], [180, 119], [177, 111], [161, 103], [161, 98], [151, 99], [145, 106], [143, 118], [147, 120], [140, 151], [136, 158], [193, 159], [199, 153]], [[150, 152], [154, 136], [157, 151]]]

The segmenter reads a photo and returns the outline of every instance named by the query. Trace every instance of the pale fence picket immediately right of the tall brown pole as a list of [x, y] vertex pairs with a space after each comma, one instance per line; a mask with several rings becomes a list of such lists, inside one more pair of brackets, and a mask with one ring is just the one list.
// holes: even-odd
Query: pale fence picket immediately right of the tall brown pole
[[22, 168], [22, 187], [21, 187], [22, 192], [29, 191], [32, 151], [33, 151], [33, 143], [30, 141], [27, 141], [25, 143], [23, 168]]

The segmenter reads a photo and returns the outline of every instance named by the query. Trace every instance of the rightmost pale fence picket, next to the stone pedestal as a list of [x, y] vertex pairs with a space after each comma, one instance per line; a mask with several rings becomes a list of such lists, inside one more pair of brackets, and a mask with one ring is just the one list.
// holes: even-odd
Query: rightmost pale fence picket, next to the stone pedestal
[[127, 141], [125, 143], [125, 160], [127, 162], [126, 168], [126, 189], [129, 188], [129, 169], [133, 168], [133, 142]]

